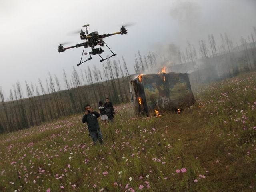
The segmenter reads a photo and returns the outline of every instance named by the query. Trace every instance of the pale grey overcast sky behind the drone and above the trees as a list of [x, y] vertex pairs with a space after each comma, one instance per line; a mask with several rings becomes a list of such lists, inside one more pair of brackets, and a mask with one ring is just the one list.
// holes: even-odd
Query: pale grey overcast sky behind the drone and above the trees
[[[182, 50], [187, 40], [197, 47], [198, 40], [211, 33], [218, 39], [226, 32], [239, 42], [240, 36], [247, 37], [256, 26], [256, 0], [0, 0], [0, 87], [7, 97], [17, 81], [24, 89], [25, 80], [44, 82], [48, 72], [62, 81], [63, 69], [70, 78], [82, 48], [58, 53], [59, 43], [82, 42], [79, 34], [70, 34], [84, 24], [90, 24], [89, 32], [105, 34], [119, 32], [121, 24], [129, 22], [136, 24], [127, 28], [128, 34], [105, 42], [117, 54], [111, 59], [123, 55], [133, 72], [138, 50], [142, 54], [164, 52], [171, 43]], [[111, 54], [106, 46], [104, 50], [102, 56]], [[95, 64], [101, 69], [99, 60], [93, 56], [76, 68]]]

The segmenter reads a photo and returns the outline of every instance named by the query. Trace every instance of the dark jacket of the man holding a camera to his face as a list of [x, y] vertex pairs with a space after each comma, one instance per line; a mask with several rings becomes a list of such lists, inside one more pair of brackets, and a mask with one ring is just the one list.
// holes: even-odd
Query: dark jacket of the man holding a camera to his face
[[96, 111], [94, 111], [93, 113], [89, 113], [88, 115], [84, 115], [84, 117], [82, 118], [82, 123], [87, 123], [88, 126], [88, 131], [96, 131], [100, 129], [100, 125], [99, 122], [97, 120], [97, 118], [100, 117], [100, 114]]

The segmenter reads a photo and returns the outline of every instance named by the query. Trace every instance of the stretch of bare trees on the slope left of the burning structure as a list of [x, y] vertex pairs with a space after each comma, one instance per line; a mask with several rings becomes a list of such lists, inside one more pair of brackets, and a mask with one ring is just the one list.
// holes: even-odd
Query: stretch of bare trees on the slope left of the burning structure
[[129, 102], [131, 77], [124, 57], [122, 61], [107, 60], [101, 67], [102, 70], [95, 65], [84, 70], [73, 67], [71, 78], [63, 70], [65, 90], [61, 89], [59, 78], [50, 72], [45, 86], [40, 79], [38, 84], [25, 82], [24, 88], [17, 82], [7, 99], [0, 88], [0, 133], [83, 112], [87, 103], [98, 108], [98, 102], [108, 97], [114, 104]]

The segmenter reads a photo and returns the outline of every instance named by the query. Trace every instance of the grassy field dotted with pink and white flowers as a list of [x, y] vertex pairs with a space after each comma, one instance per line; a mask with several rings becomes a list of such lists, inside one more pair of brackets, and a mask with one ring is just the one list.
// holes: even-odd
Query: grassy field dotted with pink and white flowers
[[82, 114], [0, 135], [0, 191], [256, 191], [256, 73], [195, 90], [181, 114], [116, 107], [104, 146]]

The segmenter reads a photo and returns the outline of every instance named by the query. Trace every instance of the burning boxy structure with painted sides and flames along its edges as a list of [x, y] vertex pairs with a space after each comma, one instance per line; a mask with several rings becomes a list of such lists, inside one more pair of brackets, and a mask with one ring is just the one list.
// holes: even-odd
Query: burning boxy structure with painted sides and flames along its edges
[[140, 74], [130, 82], [135, 114], [157, 117], [163, 111], [180, 113], [195, 103], [187, 73]]

